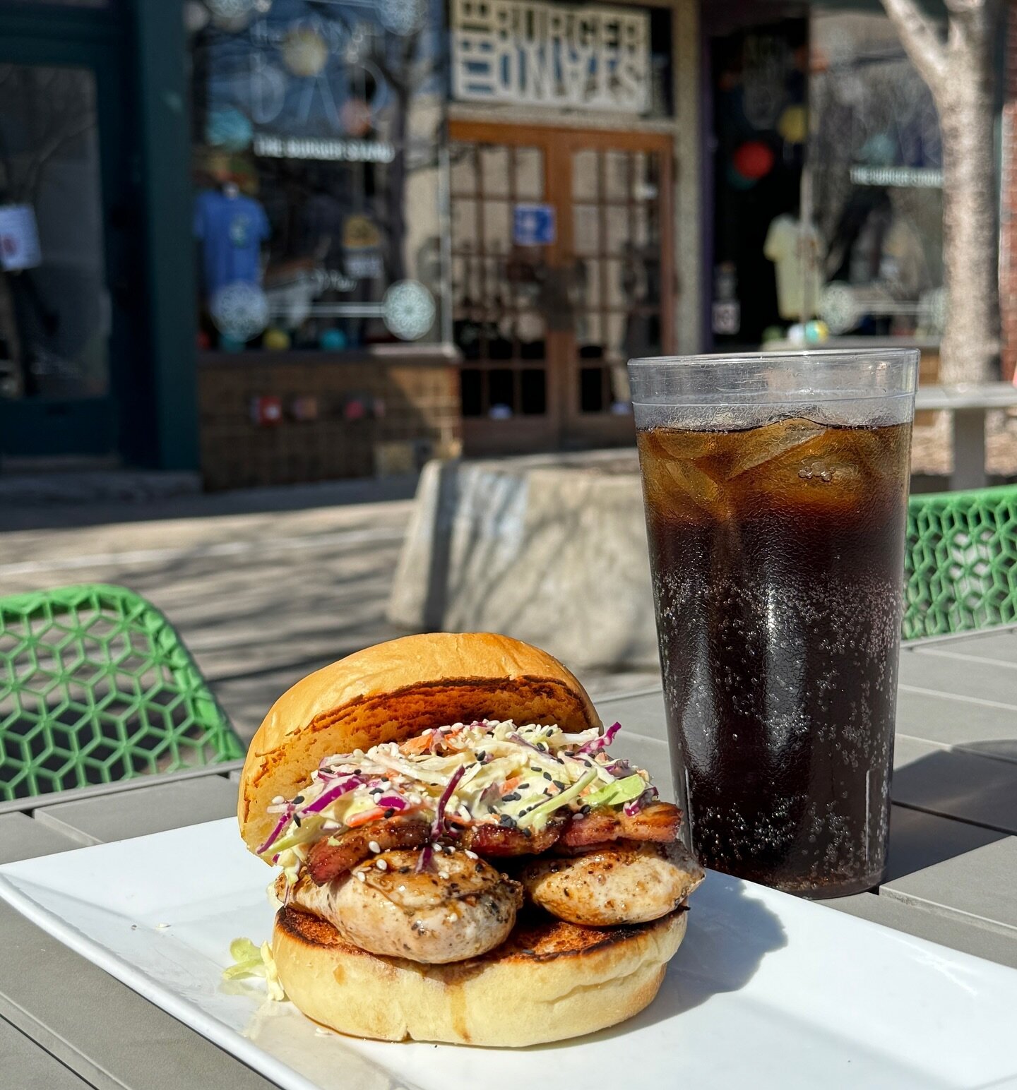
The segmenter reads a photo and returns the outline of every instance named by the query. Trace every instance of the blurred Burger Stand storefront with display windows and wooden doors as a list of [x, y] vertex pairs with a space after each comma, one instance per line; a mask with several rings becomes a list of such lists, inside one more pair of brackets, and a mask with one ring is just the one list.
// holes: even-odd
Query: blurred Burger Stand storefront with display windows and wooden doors
[[53, 73], [94, 104], [34, 196], [5, 165], [41, 264], [4, 272], [4, 464], [230, 487], [627, 444], [625, 362], [662, 352], [892, 338], [934, 374], [939, 124], [879, 3], [180, 7], [0, 0], [22, 131], [75, 122]]

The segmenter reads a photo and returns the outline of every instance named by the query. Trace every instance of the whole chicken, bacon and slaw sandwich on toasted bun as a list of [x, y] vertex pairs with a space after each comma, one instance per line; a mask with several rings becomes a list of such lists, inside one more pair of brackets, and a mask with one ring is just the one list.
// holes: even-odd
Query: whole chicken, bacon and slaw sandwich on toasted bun
[[617, 730], [491, 633], [382, 643], [280, 697], [238, 818], [278, 870], [289, 998], [342, 1033], [501, 1046], [642, 1010], [703, 871]]

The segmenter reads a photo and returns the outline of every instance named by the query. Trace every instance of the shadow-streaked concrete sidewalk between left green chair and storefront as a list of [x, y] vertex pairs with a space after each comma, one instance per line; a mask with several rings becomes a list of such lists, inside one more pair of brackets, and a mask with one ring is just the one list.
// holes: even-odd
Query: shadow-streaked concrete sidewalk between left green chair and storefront
[[[294, 681], [401, 630], [385, 619], [414, 482], [340, 482], [0, 514], [0, 595], [120, 583], [162, 609], [247, 739]], [[655, 675], [583, 676], [594, 692]]]

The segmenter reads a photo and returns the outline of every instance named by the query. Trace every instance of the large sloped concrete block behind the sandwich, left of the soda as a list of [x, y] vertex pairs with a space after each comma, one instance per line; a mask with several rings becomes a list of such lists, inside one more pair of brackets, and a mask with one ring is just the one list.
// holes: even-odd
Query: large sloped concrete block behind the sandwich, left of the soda
[[429, 462], [388, 618], [505, 632], [576, 668], [655, 667], [635, 452]]

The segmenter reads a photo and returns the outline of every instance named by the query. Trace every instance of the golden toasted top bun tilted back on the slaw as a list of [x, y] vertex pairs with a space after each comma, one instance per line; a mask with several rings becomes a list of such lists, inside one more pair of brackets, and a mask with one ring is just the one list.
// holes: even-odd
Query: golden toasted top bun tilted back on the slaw
[[269, 708], [240, 774], [240, 834], [252, 851], [264, 841], [273, 798], [292, 798], [323, 758], [483, 718], [601, 725], [576, 677], [519, 640], [434, 632], [378, 643], [310, 674]]

